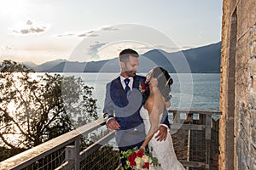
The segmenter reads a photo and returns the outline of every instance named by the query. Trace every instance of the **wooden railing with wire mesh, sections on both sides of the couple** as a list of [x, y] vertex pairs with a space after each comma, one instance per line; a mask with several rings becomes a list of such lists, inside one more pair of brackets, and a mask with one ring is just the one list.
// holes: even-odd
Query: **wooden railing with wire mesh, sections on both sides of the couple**
[[[172, 114], [172, 141], [177, 158], [188, 170], [218, 169], [218, 120], [220, 111], [176, 111]], [[1, 169], [116, 169], [119, 150], [110, 145], [114, 132], [103, 119], [26, 150], [0, 162]], [[90, 140], [89, 140], [90, 139]], [[90, 141], [90, 143], [88, 143]]]

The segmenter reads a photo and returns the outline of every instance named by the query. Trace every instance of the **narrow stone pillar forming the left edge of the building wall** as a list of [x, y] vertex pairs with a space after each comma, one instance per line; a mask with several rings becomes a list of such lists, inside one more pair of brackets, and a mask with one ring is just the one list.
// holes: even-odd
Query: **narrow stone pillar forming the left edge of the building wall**
[[219, 120], [219, 159], [218, 169], [234, 169], [234, 113], [236, 75], [236, 8], [230, 10], [229, 1], [223, 3], [222, 54]]

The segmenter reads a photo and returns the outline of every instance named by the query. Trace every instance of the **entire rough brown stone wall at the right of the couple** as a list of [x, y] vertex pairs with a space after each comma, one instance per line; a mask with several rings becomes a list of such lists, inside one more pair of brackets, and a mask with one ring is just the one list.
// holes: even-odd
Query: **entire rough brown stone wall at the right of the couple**
[[256, 1], [224, 0], [219, 169], [256, 169]]

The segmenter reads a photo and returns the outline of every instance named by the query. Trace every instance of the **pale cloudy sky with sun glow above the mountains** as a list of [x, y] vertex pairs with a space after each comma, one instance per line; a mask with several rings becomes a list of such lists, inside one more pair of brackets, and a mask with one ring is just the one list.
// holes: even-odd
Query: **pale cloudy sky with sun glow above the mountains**
[[221, 40], [221, 0], [0, 0], [0, 60], [110, 59]]

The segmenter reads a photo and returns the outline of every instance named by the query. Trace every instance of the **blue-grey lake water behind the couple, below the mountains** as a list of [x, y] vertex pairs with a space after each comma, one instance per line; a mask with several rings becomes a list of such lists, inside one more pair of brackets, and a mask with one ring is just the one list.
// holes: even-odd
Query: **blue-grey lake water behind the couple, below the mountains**
[[[93, 97], [97, 99], [97, 112], [102, 117], [102, 108], [106, 84], [119, 73], [63, 73], [64, 76], [81, 77], [85, 84], [92, 86]], [[142, 73], [140, 75], [145, 76]], [[171, 74], [172, 85], [171, 109], [180, 110], [219, 110], [220, 74]]]

